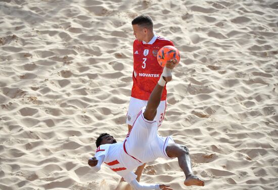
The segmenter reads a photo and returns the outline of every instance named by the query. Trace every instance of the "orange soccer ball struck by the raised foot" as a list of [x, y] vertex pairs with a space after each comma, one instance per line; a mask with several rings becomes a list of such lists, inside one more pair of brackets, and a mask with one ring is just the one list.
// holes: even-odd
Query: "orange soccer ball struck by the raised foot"
[[174, 46], [166, 45], [158, 51], [157, 61], [161, 67], [164, 67], [171, 59], [177, 59], [177, 63], [180, 60], [179, 52]]

